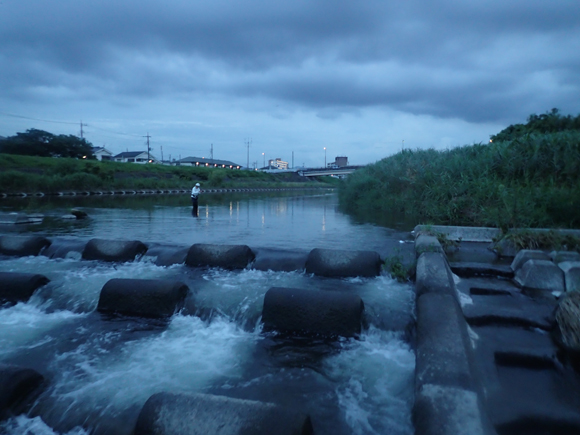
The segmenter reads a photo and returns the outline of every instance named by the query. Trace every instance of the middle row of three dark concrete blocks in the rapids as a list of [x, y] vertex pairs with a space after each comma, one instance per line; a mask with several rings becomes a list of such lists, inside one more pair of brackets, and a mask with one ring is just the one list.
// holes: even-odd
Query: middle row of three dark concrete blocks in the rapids
[[[27, 301], [48, 282], [40, 274], [0, 272], [0, 303]], [[101, 289], [97, 311], [168, 318], [184, 307], [189, 293], [180, 281], [115, 278]], [[361, 333], [363, 313], [364, 303], [355, 294], [272, 287], [264, 296], [262, 322], [265, 331], [352, 337]]]

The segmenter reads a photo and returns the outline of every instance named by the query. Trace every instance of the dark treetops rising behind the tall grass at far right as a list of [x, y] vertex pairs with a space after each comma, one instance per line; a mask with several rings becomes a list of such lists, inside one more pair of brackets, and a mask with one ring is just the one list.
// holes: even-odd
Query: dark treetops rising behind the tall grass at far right
[[530, 115], [526, 124], [512, 124], [498, 134], [491, 136], [493, 142], [514, 140], [527, 134], [558, 133], [560, 131], [580, 131], [580, 115], [563, 116], [558, 109], [542, 115]]

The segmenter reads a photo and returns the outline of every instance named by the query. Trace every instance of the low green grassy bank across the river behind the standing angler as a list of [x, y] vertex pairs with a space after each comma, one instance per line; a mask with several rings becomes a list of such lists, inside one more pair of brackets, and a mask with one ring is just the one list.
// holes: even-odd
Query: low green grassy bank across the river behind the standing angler
[[191, 189], [192, 183], [214, 188], [329, 187], [336, 179], [306, 179], [294, 173], [139, 165], [70, 158], [0, 154], [0, 193]]

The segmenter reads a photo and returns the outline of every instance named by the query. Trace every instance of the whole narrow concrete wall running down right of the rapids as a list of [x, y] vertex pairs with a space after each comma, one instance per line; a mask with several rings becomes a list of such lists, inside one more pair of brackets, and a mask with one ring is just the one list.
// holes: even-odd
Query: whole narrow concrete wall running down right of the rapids
[[491, 435], [475, 376], [469, 326], [437, 238], [420, 234], [417, 259], [416, 435]]

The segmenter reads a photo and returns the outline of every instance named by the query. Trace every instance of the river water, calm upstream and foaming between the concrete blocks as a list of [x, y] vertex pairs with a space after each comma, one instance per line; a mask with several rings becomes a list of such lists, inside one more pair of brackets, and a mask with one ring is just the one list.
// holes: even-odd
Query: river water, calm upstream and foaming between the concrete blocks
[[[82, 207], [90, 218], [61, 216]], [[0, 363], [31, 367], [48, 387], [30, 413], [2, 423], [9, 435], [128, 435], [154, 393], [204, 392], [270, 401], [311, 415], [317, 434], [411, 434], [415, 355], [405, 340], [414, 289], [388, 276], [328, 279], [304, 272], [194, 269], [156, 265], [151, 256], [112, 264], [80, 259], [93, 237], [157, 247], [247, 244], [253, 249], [312, 248], [399, 252], [408, 229], [354, 222], [332, 193], [205, 195], [199, 215], [187, 196], [32, 198], [1, 211], [40, 211], [42, 224], [0, 227], [37, 233], [70, 248], [60, 258], [3, 257], [0, 271], [51, 281], [26, 303], [0, 308]], [[66, 250], [66, 249], [65, 249]], [[112, 278], [185, 282], [187, 307], [169, 322], [106, 318], [95, 312]], [[354, 292], [368, 327], [356, 339], [305, 340], [264, 334], [263, 297], [273, 286]]]

